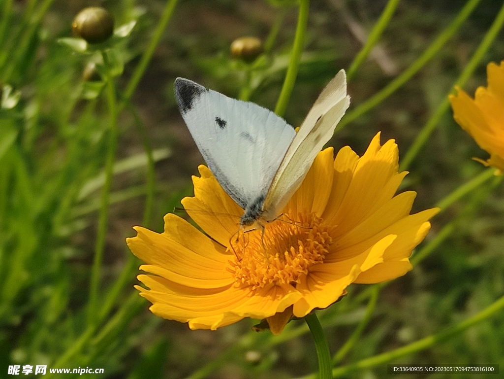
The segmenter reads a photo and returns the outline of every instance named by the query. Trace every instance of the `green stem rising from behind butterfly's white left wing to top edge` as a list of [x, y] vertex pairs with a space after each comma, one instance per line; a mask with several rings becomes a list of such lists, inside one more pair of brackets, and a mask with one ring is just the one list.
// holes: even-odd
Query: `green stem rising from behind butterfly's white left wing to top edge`
[[287, 103], [289, 102], [290, 95], [294, 89], [294, 83], [296, 82], [297, 71], [299, 69], [299, 62], [301, 61], [301, 54], [304, 47], [304, 35], [306, 34], [306, 27], [308, 25], [310, 2], [309, 0], [300, 0], [299, 3], [296, 35], [294, 37], [294, 45], [292, 46], [289, 67], [287, 68], [287, 74], [285, 75], [282, 91], [280, 92], [277, 106], [275, 107], [275, 113], [280, 117], [283, 117], [285, 114]]

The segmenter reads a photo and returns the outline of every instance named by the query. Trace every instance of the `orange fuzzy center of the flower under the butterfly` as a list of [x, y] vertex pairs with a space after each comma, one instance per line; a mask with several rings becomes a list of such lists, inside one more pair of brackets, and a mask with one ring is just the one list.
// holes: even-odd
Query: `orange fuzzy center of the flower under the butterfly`
[[[286, 220], [298, 220], [295, 222]], [[240, 232], [228, 251], [235, 261], [230, 270], [239, 286], [262, 288], [268, 284], [295, 286], [313, 264], [322, 263], [332, 243], [330, 228], [315, 215], [276, 220], [262, 230]]]

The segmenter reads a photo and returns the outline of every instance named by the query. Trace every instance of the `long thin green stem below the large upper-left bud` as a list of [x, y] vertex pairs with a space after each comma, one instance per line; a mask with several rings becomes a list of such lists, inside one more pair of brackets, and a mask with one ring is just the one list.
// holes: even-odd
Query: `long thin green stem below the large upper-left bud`
[[[103, 54], [106, 63], [106, 54]], [[117, 150], [117, 104], [115, 96], [115, 85], [113, 78], [107, 78], [107, 101], [110, 114], [109, 139], [107, 149], [107, 160], [105, 164], [105, 183], [102, 188], [100, 200], [100, 215], [98, 220], [98, 234], [96, 237], [95, 255], [93, 267], [91, 269], [91, 286], [88, 302], [88, 324], [93, 324], [98, 318], [98, 290], [100, 284], [101, 264], [103, 260], [103, 251], [105, 249], [105, 237], [108, 224], [108, 205], [110, 198], [110, 187], [112, 184], [115, 152]]]

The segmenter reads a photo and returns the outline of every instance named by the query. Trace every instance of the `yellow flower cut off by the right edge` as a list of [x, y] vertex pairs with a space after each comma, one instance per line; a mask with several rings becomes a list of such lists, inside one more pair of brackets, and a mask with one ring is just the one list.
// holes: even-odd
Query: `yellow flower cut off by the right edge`
[[486, 161], [473, 158], [485, 166], [504, 172], [504, 61], [486, 67], [488, 87], [478, 87], [473, 100], [461, 88], [450, 95], [455, 121], [490, 154]]

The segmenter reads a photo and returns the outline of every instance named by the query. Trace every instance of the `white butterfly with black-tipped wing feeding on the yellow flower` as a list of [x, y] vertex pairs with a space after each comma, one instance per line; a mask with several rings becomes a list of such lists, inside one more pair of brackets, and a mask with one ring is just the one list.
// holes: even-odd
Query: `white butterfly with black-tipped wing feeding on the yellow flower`
[[208, 167], [244, 209], [242, 228], [278, 217], [350, 104], [344, 70], [324, 88], [298, 133], [262, 106], [191, 80], [175, 80], [175, 99]]

